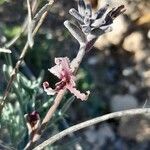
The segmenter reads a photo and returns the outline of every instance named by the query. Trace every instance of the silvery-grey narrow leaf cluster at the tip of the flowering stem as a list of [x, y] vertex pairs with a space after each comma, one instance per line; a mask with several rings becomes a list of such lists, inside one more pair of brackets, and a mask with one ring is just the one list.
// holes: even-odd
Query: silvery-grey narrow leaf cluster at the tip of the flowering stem
[[78, 11], [74, 8], [69, 13], [75, 18], [75, 23], [65, 21], [64, 25], [79, 42], [80, 45], [86, 44], [86, 50], [93, 46], [97, 37], [111, 31], [113, 20], [125, 9], [124, 5], [112, 8], [108, 11], [109, 5], [106, 4], [97, 12], [92, 12], [90, 4], [86, 4], [83, 0], [78, 1]]

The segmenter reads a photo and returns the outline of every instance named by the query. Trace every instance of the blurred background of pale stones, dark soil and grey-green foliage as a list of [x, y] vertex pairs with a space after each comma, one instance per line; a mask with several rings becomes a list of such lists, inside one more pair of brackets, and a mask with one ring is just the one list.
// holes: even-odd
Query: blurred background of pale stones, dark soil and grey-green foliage
[[[93, 117], [150, 106], [150, 0], [108, 1], [110, 8], [124, 4], [127, 10], [115, 19], [112, 32], [99, 37], [81, 64], [78, 89], [90, 90], [90, 97], [82, 102], [67, 93], [43, 139]], [[88, 2], [96, 11], [107, 1]], [[37, 3], [39, 10], [46, 0]], [[52, 104], [53, 97], [47, 96], [41, 85], [48, 80], [54, 86], [57, 78], [47, 69], [54, 65], [55, 57], [73, 59], [79, 47], [63, 25], [65, 20], [72, 19], [68, 13], [72, 7], [77, 8], [75, 0], [56, 0], [35, 36], [34, 46], [26, 54], [0, 117], [0, 149], [23, 149], [28, 139], [24, 114], [36, 110], [43, 118]], [[20, 34], [26, 16], [26, 1], [0, 0], [1, 47]], [[0, 97], [26, 40], [24, 32], [10, 47], [12, 54], [0, 54]], [[60, 113], [62, 110], [64, 113]], [[70, 135], [47, 149], [149, 150], [150, 116], [112, 119]]]

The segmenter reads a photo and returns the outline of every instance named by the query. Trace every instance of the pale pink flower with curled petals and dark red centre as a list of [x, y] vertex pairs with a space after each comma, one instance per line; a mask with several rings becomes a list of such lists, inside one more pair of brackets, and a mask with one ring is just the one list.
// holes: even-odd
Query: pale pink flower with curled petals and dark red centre
[[55, 89], [49, 87], [48, 82], [43, 83], [44, 91], [47, 95], [54, 95], [60, 90], [68, 89], [77, 98], [86, 100], [90, 92], [87, 91], [86, 94], [84, 94], [76, 89], [75, 76], [73, 75], [73, 71], [70, 67], [70, 60], [67, 57], [55, 58], [55, 64], [56, 65], [54, 67], [48, 70], [57, 76], [60, 81], [55, 84]]

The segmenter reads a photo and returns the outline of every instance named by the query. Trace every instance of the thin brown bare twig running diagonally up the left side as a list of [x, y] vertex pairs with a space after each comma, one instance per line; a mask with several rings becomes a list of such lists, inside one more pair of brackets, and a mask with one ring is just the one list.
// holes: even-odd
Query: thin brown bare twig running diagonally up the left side
[[[49, 3], [51, 3], [51, 5], [53, 4], [53, 2], [54, 2], [53, 0], [50, 0], [50, 1], [49, 1]], [[42, 22], [44, 21], [44, 19], [46, 18], [47, 14], [48, 14], [48, 11], [45, 12], [45, 13], [41, 16], [40, 20], [38, 21], [38, 23], [37, 23], [37, 25], [36, 25], [36, 27], [35, 27], [33, 33], [32, 33], [32, 34], [33, 34], [33, 37], [34, 37], [35, 34], [37, 33], [38, 29], [40, 28], [40, 26], [41, 26]], [[13, 81], [14, 81], [16, 75], [17, 75], [18, 69], [19, 69], [19, 67], [20, 67], [20, 65], [21, 65], [21, 63], [22, 63], [22, 61], [23, 61], [23, 59], [24, 59], [24, 57], [25, 57], [25, 54], [26, 54], [26, 52], [27, 52], [27, 50], [28, 50], [28, 47], [29, 47], [29, 43], [28, 43], [28, 41], [27, 41], [26, 44], [25, 44], [25, 46], [24, 46], [24, 48], [23, 48], [23, 50], [22, 50], [22, 53], [21, 53], [21, 55], [20, 55], [20, 57], [19, 57], [19, 60], [17, 61], [16, 65], [15, 65], [13, 71], [12, 71], [12, 74], [11, 74], [11, 76], [10, 76], [10, 80], [8, 81], [8, 84], [7, 84], [6, 90], [5, 90], [5, 92], [4, 92], [2, 101], [0, 102], [0, 114], [1, 114], [2, 109], [3, 109], [3, 107], [4, 107], [5, 103], [6, 103], [6, 99], [7, 99], [7, 97], [8, 97], [9, 91], [10, 91], [10, 89], [11, 89], [12, 83], [13, 83]]]

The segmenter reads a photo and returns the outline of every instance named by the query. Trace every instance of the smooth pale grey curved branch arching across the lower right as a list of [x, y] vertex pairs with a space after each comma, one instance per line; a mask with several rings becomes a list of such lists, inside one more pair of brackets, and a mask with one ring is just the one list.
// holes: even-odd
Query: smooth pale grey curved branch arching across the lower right
[[97, 123], [100, 123], [100, 122], [103, 122], [103, 121], [106, 121], [109, 119], [124, 117], [124, 116], [138, 115], [138, 114], [147, 114], [147, 113], [150, 113], [150, 108], [130, 109], [130, 110], [114, 112], [114, 113], [110, 113], [110, 114], [103, 115], [100, 117], [96, 117], [94, 119], [90, 119], [88, 121], [79, 123], [79, 124], [74, 125], [68, 129], [63, 130], [62, 132], [60, 132], [60, 133], [52, 136], [48, 140], [44, 141], [42, 144], [38, 145], [33, 150], [41, 150], [44, 147], [46, 147], [50, 144], [53, 144], [56, 141], [62, 139], [63, 137], [65, 137], [66, 135], [68, 135], [70, 133], [76, 132], [76, 131], [81, 130], [83, 128], [89, 127], [91, 125], [95, 125]]

